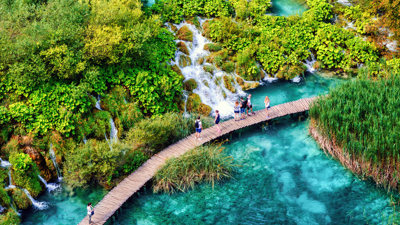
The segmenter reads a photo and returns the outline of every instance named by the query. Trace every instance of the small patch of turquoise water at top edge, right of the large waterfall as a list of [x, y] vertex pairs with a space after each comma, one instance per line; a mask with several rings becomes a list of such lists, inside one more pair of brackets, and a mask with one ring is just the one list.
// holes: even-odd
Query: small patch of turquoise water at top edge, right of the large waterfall
[[302, 0], [272, 0], [271, 3], [271, 13], [280, 16], [289, 16], [295, 13], [302, 14], [308, 9], [306, 1]]

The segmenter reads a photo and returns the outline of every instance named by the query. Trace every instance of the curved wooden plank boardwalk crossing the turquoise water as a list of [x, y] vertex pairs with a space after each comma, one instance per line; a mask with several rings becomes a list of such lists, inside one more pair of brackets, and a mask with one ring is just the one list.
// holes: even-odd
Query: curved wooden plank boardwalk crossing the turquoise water
[[[315, 97], [300, 99], [293, 102], [287, 102], [280, 105], [272, 106], [269, 110], [269, 118], [265, 109], [255, 111], [250, 117], [246, 116], [245, 120], [234, 121], [234, 119], [219, 123], [221, 133], [215, 132], [215, 127], [204, 129], [201, 133], [202, 140], [196, 140], [195, 134], [168, 146], [163, 151], [155, 154], [145, 163], [143, 163], [135, 172], [116, 185], [104, 198], [94, 207], [94, 215], [92, 223], [94, 225], [104, 224], [118, 210], [121, 205], [128, 200], [137, 190], [139, 190], [147, 181], [149, 181], [165, 160], [170, 157], [177, 157], [189, 149], [207, 143], [218, 137], [233, 132], [234, 130], [261, 123], [274, 118], [283, 117], [290, 114], [301, 113], [309, 109], [309, 105]], [[194, 123], [194, 122], [193, 122]], [[86, 210], [85, 210], [86, 212]], [[79, 225], [88, 224], [89, 216], [79, 222]]]

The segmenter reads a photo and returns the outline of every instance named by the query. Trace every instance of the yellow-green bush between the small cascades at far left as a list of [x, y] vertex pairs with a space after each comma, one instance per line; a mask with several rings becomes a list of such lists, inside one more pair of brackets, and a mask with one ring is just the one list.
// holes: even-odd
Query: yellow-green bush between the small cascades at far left
[[14, 153], [10, 155], [12, 164], [13, 184], [29, 191], [32, 197], [42, 192], [41, 181], [38, 176], [39, 169], [35, 162], [25, 153]]

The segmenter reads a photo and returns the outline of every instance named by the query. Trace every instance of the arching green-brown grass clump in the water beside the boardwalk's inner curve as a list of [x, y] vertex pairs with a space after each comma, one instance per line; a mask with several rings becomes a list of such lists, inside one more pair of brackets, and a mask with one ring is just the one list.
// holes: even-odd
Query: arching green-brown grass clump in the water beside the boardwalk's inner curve
[[223, 151], [222, 143], [191, 149], [178, 158], [168, 159], [153, 177], [153, 192], [187, 192], [200, 182], [215, 183], [232, 178], [236, 165]]

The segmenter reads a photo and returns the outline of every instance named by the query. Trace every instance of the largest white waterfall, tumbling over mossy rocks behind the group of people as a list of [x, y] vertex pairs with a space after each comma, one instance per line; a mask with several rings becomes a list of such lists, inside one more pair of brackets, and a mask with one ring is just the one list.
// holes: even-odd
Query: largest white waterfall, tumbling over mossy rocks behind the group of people
[[[199, 22], [203, 24], [205, 20], [199, 19]], [[168, 24], [166, 25], [169, 26]], [[209, 51], [204, 50], [204, 45], [211, 42], [207, 40], [206, 37], [202, 36], [201, 32], [197, 30], [194, 25], [183, 22], [178, 25], [175, 24], [175, 26], [178, 29], [183, 26], [187, 26], [193, 32], [193, 42], [182, 41], [188, 47], [190, 53], [189, 57], [192, 61], [191, 65], [189, 66], [183, 68], [179, 67], [185, 77], [185, 81], [189, 79], [194, 79], [196, 81], [197, 88], [193, 90], [193, 93], [199, 95], [202, 102], [212, 108], [212, 112], [214, 112], [215, 109], [218, 109], [222, 118], [234, 116], [234, 102], [238, 100], [240, 96], [246, 95], [246, 93], [242, 90], [242, 87], [238, 85], [235, 80], [237, 77], [236, 74], [222, 71], [216, 68], [214, 65], [206, 62], [199, 65], [197, 61], [210, 54]], [[181, 40], [177, 40], [176, 42], [180, 41]], [[175, 62], [171, 63], [179, 66], [179, 57], [181, 57], [182, 54], [184, 53], [181, 51], [176, 51]], [[213, 74], [206, 72], [203, 69], [203, 66], [214, 67]], [[235, 93], [232, 93], [225, 87], [223, 77], [226, 75], [234, 78], [233, 86], [236, 89]]]

